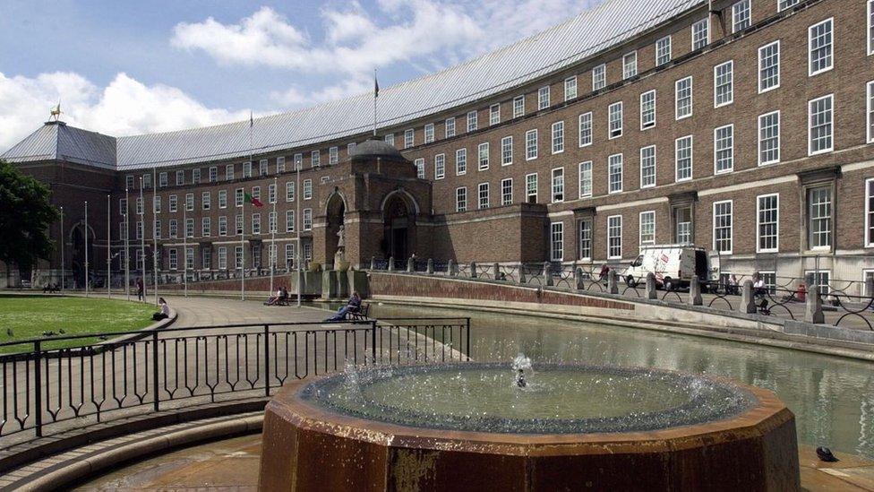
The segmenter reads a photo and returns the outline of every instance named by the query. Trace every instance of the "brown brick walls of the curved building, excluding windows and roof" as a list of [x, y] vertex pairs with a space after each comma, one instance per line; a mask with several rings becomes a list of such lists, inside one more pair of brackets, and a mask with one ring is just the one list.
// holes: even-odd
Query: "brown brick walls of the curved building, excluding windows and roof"
[[[177, 249], [178, 270], [182, 267], [182, 209], [185, 194], [194, 194], [194, 237], [189, 246], [195, 248], [195, 268], [201, 269], [201, 250], [210, 249], [210, 269], [218, 269], [218, 247], [227, 247], [227, 263], [233, 268], [233, 251], [239, 243], [235, 235], [234, 205], [236, 188], [247, 193], [260, 188], [265, 207], [253, 211], [246, 206], [247, 253], [263, 256], [270, 242], [268, 187], [278, 184], [278, 263], [286, 264], [284, 247], [296, 244], [296, 231], [285, 228], [287, 211], [300, 214], [312, 212], [312, 229], [302, 231], [302, 241], [312, 248], [312, 258], [319, 263], [333, 263], [336, 230], [328, 220], [329, 199], [340, 194], [346, 206], [347, 259], [354, 265], [368, 263], [370, 257], [387, 257], [391, 247], [386, 244], [386, 197], [392, 192], [408, 196], [407, 203], [416, 203], [415, 227], [410, 226], [407, 254], [418, 257], [452, 259], [458, 262], [541, 262], [551, 258], [550, 224], [563, 224], [563, 240], [558, 248], [563, 262], [624, 263], [638, 255], [639, 217], [641, 212], [655, 212], [656, 244], [677, 240], [678, 224], [673, 218], [677, 207], [687, 203], [691, 211], [690, 242], [715, 250], [714, 203], [731, 201], [731, 252], [716, 255], [724, 272], [750, 273], [756, 270], [775, 272], [787, 277], [802, 276], [818, 264], [827, 269], [833, 279], [861, 281], [866, 272], [874, 272], [874, 248], [866, 241], [870, 224], [866, 223], [866, 180], [874, 177], [874, 152], [869, 144], [867, 126], [868, 96], [866, 84], [874, 80], [874, 56], [869, 56], [870, 29], [867, 23], [868, 2], [853, 0], [801, 1], [792, 8], [778, 12], [777, 0], [750, 0], [750, 27], [736, 33], [733, 30], [733, 1], [713, 2], [715, 13], [707, 12], [707, 4], [677, 16], [673, 21], [613, 45], [574, 67], [525, 85], [511, 88], [501, 95], [480, 99], [474, 103], [422, 117], [396, 127], [380, 129], [381, 135], [393, 134], [395, 145], [410, 163], [381, 166], [372, 162], [356, 168], [348, 159], [347, 143], [351, 140], [321, 142], [319, 145], [292, 148], [287, 151], [256, 155], [253, 177], [242, 177], [244, 164], [240, 160], [209, 161], [198, 166], [158, 168], [167, 173], [168, 185], [159, 186], [162, 211], [162, 252]], [[709, 19], [709, 42], [693, 50], [691, 26]], [[833, 68], [810, 76], [809, 28], [831, 19]], [[656, 66], [656, 40], [671, 36], [672, 59]], [[758, 49], [779, 41], [779, 87], [759, 93]], [[638, 74], [623, 78], [623, 56], [636, 52]], [[715, 67], [733, 62], [732, 102], [715, 106]], [[605, 64], [606, 85], [593, 91], [592, 71]], [[576, 76], [578, 96], [564, 100], [564, 83]], [[676, 115], [676, 82], [692, 78], [692, 111], [690, 117]], [[550, 87], [550, 105], [537, 109], [537, 91]], [[641, 96], [656, 91], [655, 125], [641, 127]], [[825, 95], [833, 96], [833, 150], [809, 155], [808, 103]], [[513, 99], [524, 96], [525, 115], [513, 117]], [[623, 108], [621, 136], [610, 138], [608, 111], [614, 103]], [[500, 104], [500, 123], [490, 125], [490, 107]], [[478, 129], [467, 132], [467, 113], [477, 111]], [[758, 162], [758, 117], [779, 111], [779, 160], [760, 165]], [[579, 118], [592, 115], [592, 143], [580, 146]], [[445, 120], [455, 118], [456, 135], [446, 138]], [[563, 149], [552, 149], [553, 124], [563, 122]], [[424, 143], [424, 125], [434, 125], [434, 142]], [[733, 125], [733, 167], [728, 172], [715, 171], [715, 129]], [[415, 130], [414, 145], [404, 148], [404, 132]], [[537, 132], [536, 159], [527, 159], [526, 134]], [[676, 141], [692, 137], [691, 178], [676, 177]], [[502, 162], [502, 139], [512, 137], [508, 162]], [[355, 140], [362, 142], [366, 135]], [[478, 162], [478, 146], [488, 144], [488, 166]], [[641, 149], [656, 147], [655, 186], [641, 186]], [[329, 164], [330, 147], [338, 147], [338, 164]], [[457, 152], [467, 151], [467, 168], [457, 169]], [[320, 151], [320, 166], [313, 168], [312, 151]], [[286, 186], [294, 182], [295, 156], [302, 156], [300, 181], [312, 183], [311, 198], [303, 199], [296, 188], [294, 201], [286, 200]], [[608, 160], [621, 154], [621, 191], [609, 189]], [[442, 155], [442, 176], [435, 169], [436, 156]], [[285, 160], [285, 171], [278, 171], [278, 157]], [[259, 176], [260, 160], [268, 161], [268, 172]], [[424, 178], [416, 177], [415, 163], [424, 160]], [[591, 194], [581, 196], [578, 186], [580, 163], [592, 163]], [[50, 166], [56, 165], [54, 163]], [[226, 165], [234, 166], [234, 177], [226, 180]], [[210, 182], [210, 168], [216, 168], [218, 179]], [[379, 168], [378, 168], [379, 167]], [[38, 168], [29, 168], [32, 172]], [[200, 169], [200, 183], [193, 184], [193, 169]], [[564, 186], [560, 200], [553, 200], [553, 169], [563, 169]], [[184, 171], [184, 185], [176, 186], [176, 171]], [[138, 192], [142, 173], [118, 171], [113, 190], [113, 241], [117, 245], [118, 199], [124, 196], [125, 178], [134, 177], [131, 193]], [[536, 174], [536, 203], [526, 194], [527, 176]], [[78, 183], [80, 176], [46, 177], [52, 183]], [[501, 204], [501, 182], [512, 179], [512, 201]], [[488, 183], [489, 203], [479, 208], [478, 186]], [[832, 237], [824, 248], [814, 249], [810, 237], [810, 203], [808, 188], [819, 184], [830, 186], [832, 193], [829, 227]], [[108, 185], [105, 185], [108, 187]], [[99, 187], [99, 186], [98, 186]], [[467, 190], [467, 211], [457, 211], [457, 190]], [[227, 191], [227, 208], [218, 207], [219, 190]], [[211, 207], [203, 210], [202, 194], [210, 193]], [[101, 192], [102, 193], [102, 192]], [[147, 190], [147, 202], [152, 190]], [[167, 211], [170, 195], [176, 195], [179, 209]], [[757, 197], [779, 194], [778, 246], [775, 252], [762, 252], [757, 238]], [[71, 198], [70, 208], [78, 206], [79, 196]], [[60, 198], [66, 202], [67, 198]], [[146, 221], [150, 223], [147, 206]], [[411, 209], [412, 210], [412, 209]], [[253, 234], [251, 213], [261, 214], [261, 234]], [[227, 217], [227, 236], [218, 236], [218, 218]], [[621, 255], [608, 257], [608, 217], [621, 216]], [[209, 217], [210, 237], [201, 234], [201, 219]], [[579, 220], [592, 223], [592, 254], [580, 257]], [[167, 238], [168, 221], [177, 220], [177, 238]], [[133, 219], [131, 237], [133, 237]], [[296, 211], [296, 227], [302, 217]], [[99, 240], [105, 224], [97, 231]], [[148, 229], [148, 228], [147, 228]], [[150, 237], [147, 231], [147, 236]], [[251, 239], [255, 239], [252, 241]], [[260, 240], [260, 241], [259, 241]], [[261, 251], [263, 250], [263, 251]], [[168, 255], [162, 253], [165, 269]], [[248, 263], [248, 261], [247, 261]], [[53, 264], [55, 261], [53, 260]]]

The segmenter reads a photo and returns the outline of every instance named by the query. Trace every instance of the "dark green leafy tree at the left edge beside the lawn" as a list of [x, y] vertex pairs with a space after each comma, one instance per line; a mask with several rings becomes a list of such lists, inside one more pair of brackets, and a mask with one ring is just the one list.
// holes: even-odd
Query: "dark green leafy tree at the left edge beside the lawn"
[[55, 249], [48, 228], [59, 217], [48, 186], [0, 160], [0, 261], [29, 269], [47, 259]]

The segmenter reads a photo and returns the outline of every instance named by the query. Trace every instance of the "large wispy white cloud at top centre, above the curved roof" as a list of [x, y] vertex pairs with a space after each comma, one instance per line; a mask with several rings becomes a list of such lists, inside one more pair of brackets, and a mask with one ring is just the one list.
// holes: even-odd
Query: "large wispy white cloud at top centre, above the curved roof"
[[[320, 26], [295, 25], [263, 6], [236, 23], [180, 23], [171, 43], [221, 65], [268, 66], [344, 82], [296, 82], [271, 98], [305, 106], [368, 90], [374, 68], [399, 63], [430, 73], [547, 29], [602, 0], [377, 0], [321, 11]], [[309, 36], [313, 28], [320, 36]], [[350, 80], [351, 79], [351, 80]]]

